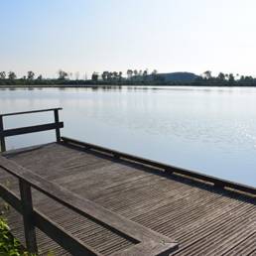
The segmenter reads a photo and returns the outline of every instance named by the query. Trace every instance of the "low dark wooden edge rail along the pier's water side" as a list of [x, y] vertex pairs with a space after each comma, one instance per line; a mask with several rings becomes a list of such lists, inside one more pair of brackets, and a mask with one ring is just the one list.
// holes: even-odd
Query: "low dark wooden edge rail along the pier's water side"
[[188, 179], [194, 179], [198, 182], [207, 183], [207, 184], [214, 186], [216, 188], [219, 188], [219, 189], [234, 190], [235, 192], [245, 192], [245, 193], [252, 194], [253, 196], [256, 195], [256, 188], [253, 188], [253, 187], [244, 186], [244, 185], [237, 184], [237, 183], [232, 183], [232, 182], [221, 180], [221, 179], [218, 179], [218, 178], [215, 178], [212, 176], [202, 175], [200, 173], [193, 172], [190, 170], [162, 164], [162, 163], [152, 161], [149, 159], [140, 158], [137, 156], [122, 153], [122, 152], [119, 152], [116, 150], [107, 149], [107, 148], [93, 145], [90, 143], [81, 142], [81, 141], [70, 139], [67, 137], [62, 137], [62, 141], [64, 142], [64, 144], [70, 144], [73, 146], [78, 146], [79, 148], [89, 149], [92, 151], [107, 154], [115, 159], [132, 161], [132, 162], [136, 162], [138, 164], [149, 166], [151, 168], [157, 168], [158, 170], [163, 171], [165, 173], [184, 176]]

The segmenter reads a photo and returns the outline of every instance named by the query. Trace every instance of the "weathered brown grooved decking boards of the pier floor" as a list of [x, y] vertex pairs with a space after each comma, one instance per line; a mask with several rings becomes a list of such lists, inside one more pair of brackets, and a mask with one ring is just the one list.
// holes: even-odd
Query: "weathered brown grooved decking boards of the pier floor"
[[[176, 239], [179, 249], [173, 255], [256, 255], [253, 197], [67, 145], [48, 144], [6, 157], [70, 192]], [[9, 188], [18, 192], [17, 181], [0, 170], [0, 183], [7, 180]], [[103, 254], [132, 246], [40, 192], [33, 192], [33, 199], [43, 213]], [[14, 233], [21, 236], [17, 214], [12, 210], [8, 218]], [[64, 255], [49, 238], [39, 237], [44, 252], [49, 246]]]

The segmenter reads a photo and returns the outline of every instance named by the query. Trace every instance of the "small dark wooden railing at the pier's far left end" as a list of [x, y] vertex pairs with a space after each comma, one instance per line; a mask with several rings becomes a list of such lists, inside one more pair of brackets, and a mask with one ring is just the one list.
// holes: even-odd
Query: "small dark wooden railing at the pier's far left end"
[[[10, 136], [15, 136], [15, 135], [28, 134], [28, 133], [34, 133], [34, 132], [43, 132], [43, 131], [48, 131], [48, 130], [56, 130], [57, 142], [61, 142], [60, 129], [64, 128], [64, 122], [59, 121], [59, 110], [62, 110], [62, 108], [50, 108], [50, 109], [41, 109], [41, 110], [33, 110], [33, 111], [26, 111], [26, 112], [0, 114], [1, 152], [6, 151], [5, 138], [10, 137]], [[54, 112], [54, 114], [55, 114], [55, 122], [54, 123], [35, 125], [35, 126], [27, 126], [27, 127], [14, 128], [14, 129], [4, 129], [4, 119], [3, 119], [4, 117], [13, 116], [13, 115], [24, 115], [24, 114], [48, 112], [48, 111]]]

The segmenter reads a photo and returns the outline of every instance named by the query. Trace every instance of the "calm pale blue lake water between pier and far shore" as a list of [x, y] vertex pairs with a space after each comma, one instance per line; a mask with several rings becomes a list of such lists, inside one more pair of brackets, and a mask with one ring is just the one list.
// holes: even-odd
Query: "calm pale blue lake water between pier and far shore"
[[[112, 87], [0, 89], [0, 112], [63, 107], [62, 134], [256, 187], [256, 88]], [[5, 127], [53, 120], [6, 117]], [[54, 132], [7, 139], [8, 149]]]

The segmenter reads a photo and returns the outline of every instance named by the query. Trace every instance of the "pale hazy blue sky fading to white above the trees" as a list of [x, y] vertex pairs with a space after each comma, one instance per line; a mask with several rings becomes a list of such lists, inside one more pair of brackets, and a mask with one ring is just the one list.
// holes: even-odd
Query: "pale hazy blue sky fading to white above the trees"
[[0, 70], [256, 76], [255, 0], [0, 0]]

